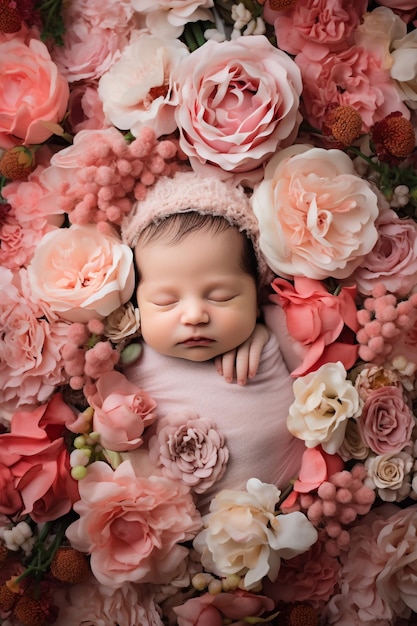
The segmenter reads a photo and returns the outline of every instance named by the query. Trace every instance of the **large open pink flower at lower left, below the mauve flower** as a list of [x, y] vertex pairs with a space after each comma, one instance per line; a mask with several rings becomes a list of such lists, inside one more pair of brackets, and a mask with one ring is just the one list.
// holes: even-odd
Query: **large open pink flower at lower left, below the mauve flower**
[[129, 461], [113, 470], [96, 461], [79, 485], [80, 518], [67, 529], [72, 546], [91, 554], [97, 580], [169, 583], [188, 554], [180, 545], [201, 527], [187, 487], [161, 476], [136, 476]]

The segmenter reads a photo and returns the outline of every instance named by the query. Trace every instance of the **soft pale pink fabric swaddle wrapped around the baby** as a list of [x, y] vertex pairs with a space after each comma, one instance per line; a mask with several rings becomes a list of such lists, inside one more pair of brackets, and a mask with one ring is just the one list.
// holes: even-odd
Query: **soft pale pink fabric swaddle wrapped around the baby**
[[256, 377], [244, 387], [226, 383], [210, 361], [162, 356], [149, 346], [126, 375], [146, 389], [161, 417], [188, 409], [223, 433], [230, 453], [226, 473], [199, 497], [201, 512], [220, 490], [244, 489], [249, 478], [283, 489], [297, 477], [304, 443], [286, 426], [292, 379], [275, 335], [263, 350]]

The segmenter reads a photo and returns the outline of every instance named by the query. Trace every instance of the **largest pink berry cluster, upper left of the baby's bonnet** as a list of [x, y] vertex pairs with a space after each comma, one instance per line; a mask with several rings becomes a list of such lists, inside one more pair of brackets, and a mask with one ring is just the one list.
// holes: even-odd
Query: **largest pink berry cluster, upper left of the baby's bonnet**
[[145, 127], [129, 143], [111, 130], [95, 133], [91, 143], [85, 141], [75, 179], [60, 186], [60, 208], [73, 224], [120, 225], [157, 178], [172, 176], [179, 168], [182, 157], [176, 140], [159, 140]]

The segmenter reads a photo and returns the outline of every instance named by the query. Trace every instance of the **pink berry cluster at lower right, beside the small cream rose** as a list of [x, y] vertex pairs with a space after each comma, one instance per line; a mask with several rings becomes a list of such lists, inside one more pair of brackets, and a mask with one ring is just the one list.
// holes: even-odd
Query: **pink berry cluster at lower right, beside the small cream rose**
[[349, 547], [348, 527], [358, 515], [366, 515], [375, 501], [375, 491], [364, 485], [365, 466], [335, 472], [321, 483], [317, 492], [299, 493], [292, 510], [304, 512], [319, 531], [331, 556]]

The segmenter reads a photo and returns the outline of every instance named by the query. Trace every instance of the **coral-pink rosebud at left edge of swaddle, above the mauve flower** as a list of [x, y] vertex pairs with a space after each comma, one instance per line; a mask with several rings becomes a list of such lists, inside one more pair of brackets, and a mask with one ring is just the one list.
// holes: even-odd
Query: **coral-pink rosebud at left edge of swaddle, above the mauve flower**
[[145, 428], [156, 419], [156, 402], [120, 372], [100, 376], [96, 392], [87, 400], [94, 409], [93, 429], [100, 433], [101, 445], [109, 450], [139, 448]]

